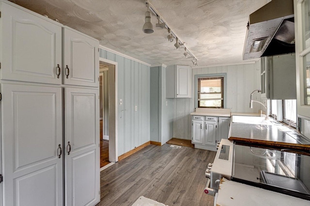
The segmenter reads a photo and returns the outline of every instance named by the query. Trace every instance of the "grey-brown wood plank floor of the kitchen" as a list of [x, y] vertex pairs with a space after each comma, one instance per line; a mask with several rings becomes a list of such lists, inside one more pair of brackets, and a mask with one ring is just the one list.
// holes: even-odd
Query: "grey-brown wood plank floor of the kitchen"
[[141, 195], [169, 206], [213, 206], [203, 192], [216, 152], [149, 145], [101, 172], [97, 206], [131, 206]]

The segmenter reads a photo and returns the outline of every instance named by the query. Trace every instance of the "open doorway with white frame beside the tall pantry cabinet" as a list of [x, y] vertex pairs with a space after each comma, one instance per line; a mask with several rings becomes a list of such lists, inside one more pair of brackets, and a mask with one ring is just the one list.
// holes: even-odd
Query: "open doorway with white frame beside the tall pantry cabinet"
[[117, 62], [99, 58], [100, 168], [118, 162], [117, 156]]

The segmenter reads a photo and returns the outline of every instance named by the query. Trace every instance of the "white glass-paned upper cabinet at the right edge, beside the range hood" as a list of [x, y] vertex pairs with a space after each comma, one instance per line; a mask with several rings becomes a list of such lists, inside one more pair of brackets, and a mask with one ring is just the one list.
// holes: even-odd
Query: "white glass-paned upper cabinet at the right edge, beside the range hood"
[[297, 113], [310, 120], [310, 0], [294, 0]]

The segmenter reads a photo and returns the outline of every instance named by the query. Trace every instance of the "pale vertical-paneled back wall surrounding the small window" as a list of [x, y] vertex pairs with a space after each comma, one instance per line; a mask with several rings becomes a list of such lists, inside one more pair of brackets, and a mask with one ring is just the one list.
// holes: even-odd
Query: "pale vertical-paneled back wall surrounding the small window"
[[[250, 94], [255, 89], [260, 89], [260, 61], [255, 64], [240, 64], [231, 66], [217, 66], [194, 68], [192, 70], [192, 98], [174, 99], [173, 137], [191, 139], [191, 116], [195, 111], [195, 75], [226, 73], [226, 105], [232, 112], [258, 112], [260, 105], [253, 104], [249, 108]], [[253, 95], [254, 99], [261, 101], [260, 94]]]

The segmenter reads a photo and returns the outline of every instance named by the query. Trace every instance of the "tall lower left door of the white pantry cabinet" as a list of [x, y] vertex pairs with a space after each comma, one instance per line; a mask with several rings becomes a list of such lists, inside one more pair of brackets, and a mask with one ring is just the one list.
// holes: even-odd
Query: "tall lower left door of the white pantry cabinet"
[[1, 84], [1, 93], [3, 205], [62, 206], [62, 88]]

